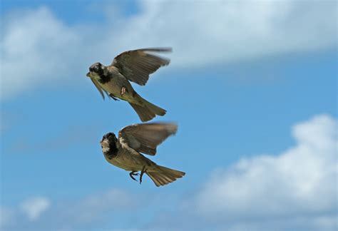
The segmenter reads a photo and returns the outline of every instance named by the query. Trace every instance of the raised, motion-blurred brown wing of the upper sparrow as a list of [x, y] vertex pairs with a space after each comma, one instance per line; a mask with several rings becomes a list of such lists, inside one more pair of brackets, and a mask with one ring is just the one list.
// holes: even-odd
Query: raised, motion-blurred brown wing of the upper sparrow
[[161, 66], [168, 65], [168, 58], [161, 58], [150, 54], [150, 52], [169, 52], [171, 48], [143, 48], [134, 51], [125, 51], [116, 56], [111, 63], [116, 66], [123, 76], [129, 81], [144, 86], [149, 75], [158, 70]]

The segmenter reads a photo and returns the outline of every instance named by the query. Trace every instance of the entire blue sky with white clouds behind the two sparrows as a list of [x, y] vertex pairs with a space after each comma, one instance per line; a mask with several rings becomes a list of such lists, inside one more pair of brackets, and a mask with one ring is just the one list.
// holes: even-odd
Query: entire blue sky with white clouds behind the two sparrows
[[[337, 230], [337, 1], [0, 1], [0, 230]], [[99, 141], [140, 123], [86, 78], [171, 46], [135, 90], [178, 123], [142, 185]]]

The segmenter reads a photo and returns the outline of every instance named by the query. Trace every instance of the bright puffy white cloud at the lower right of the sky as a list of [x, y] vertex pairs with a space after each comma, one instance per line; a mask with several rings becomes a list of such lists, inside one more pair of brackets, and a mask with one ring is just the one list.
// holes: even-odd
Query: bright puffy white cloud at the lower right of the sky
[[215, 171], [196, 197], [198, 214], [234, 230], [334, 230], [337, 130], [334, 118], [315, 116], [292, 128], [292, 148], [242, 158], [230, 169]]

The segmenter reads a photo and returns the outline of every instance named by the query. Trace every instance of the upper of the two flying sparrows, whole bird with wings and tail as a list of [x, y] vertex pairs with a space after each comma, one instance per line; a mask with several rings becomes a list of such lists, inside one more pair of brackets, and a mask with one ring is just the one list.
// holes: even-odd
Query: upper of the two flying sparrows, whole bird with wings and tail
[[166, 111], [138, 95], [129, 81], [144, 86], [151, 73], [170, 63], [168, 58], [151, 53], [169, 51], [171, 48], [143, 48], [125, 51], [116, 56], [110, 66], [94, 63], [89, 67], [86, 76], [91, 78], [103, 99], [104, 92], [114, 100], [120, 98], [127, 101], [138, 113], [140, 120], [145, 122], [156, 115], [164, 116]]

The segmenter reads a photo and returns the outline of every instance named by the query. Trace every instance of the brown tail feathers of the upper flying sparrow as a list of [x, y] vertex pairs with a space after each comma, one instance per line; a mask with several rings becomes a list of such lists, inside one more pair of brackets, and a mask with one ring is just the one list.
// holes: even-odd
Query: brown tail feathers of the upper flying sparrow
[[138, 117], [140, 117], [142, 122], [151, 120], [156, 115], [164, 116], [167, 112], [163, 108], [155, 106], [153, 103], [146, 101], [144, 98], [140, 97], [140, 101], [142, 101], [143, 106], [135, 103], [130, 103], [130, 106], [132, 106], [135, 112], [138, 113]]

